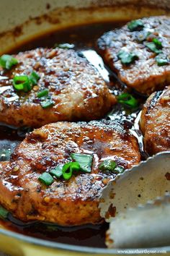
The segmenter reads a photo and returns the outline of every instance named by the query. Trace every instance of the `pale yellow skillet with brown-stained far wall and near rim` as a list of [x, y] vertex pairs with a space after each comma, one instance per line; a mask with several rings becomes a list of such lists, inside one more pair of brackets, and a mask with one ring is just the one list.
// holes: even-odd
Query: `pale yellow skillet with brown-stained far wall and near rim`
[[[55, 30], [97, 22], [119, 22], [139, 17], [169, 14], [167, 1], [24, 1], [1, 0], [0, 54], [12, 51], [24, 42]], [[0, 229], [0, 248], [11, 255], [116, 255], [118, 249], [80, 247], [32, 238], [4, 226]], [[170, 247], [148, 248], [151, 251]], [[144, 249], [143, 249], [144, 250]], [[129, 249], [131, 254], [141, 252]], [[154, 254], [153, 254], [154, 255]]]

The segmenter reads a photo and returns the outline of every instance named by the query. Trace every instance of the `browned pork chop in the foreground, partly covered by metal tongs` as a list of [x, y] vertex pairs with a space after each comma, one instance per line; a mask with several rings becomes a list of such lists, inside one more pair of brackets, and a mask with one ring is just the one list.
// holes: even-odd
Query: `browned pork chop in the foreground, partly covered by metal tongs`
[[[93, 155], [91, 172], [55, 179], [46, 186], [40, 174], [71, 161], [71, 153]], [[58, 122], [35, 129], [1, 163], [0, 202], [22, 221], [40, 220], [63, 226], [99, 223], [99, 196], [115, 174], [101, 171], [105, 159], [130, 168], [140, 161], [138, 142], [112, 121]]]

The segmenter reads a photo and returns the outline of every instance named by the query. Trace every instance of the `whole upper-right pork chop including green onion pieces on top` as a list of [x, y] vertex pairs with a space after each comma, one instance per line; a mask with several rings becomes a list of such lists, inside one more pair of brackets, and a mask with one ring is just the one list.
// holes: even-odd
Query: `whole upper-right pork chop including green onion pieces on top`
[[[169, 17], [146, 17], [104, 33], [98, 47], [104, 61], [130, 88], [150, 94], [169, 84]], [[120, 51], [124, 53], [121, 55]], [[130, 59], [132, 63], [122, 63]]]

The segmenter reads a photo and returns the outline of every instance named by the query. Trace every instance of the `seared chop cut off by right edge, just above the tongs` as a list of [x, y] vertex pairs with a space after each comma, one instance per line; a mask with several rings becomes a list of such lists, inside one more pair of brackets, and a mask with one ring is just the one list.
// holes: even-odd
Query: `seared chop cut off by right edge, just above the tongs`
[[170, 150], [170, 86], [148, 98], [143, 107], [140, 127], [149, 154]]

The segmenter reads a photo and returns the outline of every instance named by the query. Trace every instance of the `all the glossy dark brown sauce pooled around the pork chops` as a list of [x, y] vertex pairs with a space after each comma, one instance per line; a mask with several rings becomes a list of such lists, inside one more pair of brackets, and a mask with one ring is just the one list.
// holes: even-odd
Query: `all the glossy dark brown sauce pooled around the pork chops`
[[[29, 43], [25, 43], [24, 46], [16, 49], [12, 52], [15, 54], [19, 51], [26, 51], [37, 47], [54, 47], [55, 43], [69, 43], [71, 47], [79, 51], [94, 50], [97, 51], [96, 41], [104, 32], [112, 30], [115, 27], [120, 27], [125, 22], [117, 23], [99, 23], [93, 25], [82, 25], [79, 27], [72, 27], [67, 30], [60, 30], [55, 33], [50, 33], [39, 39], [32, 40]], [[124, 86], [117, 82], [115, 74], [109, 71], [109, 79], [111, 84], [115, 84], [112, 88], [115, 95], [124, 90]], [[135, 93], [135, 98], [141, 103], [145, 101], [145, 98], [141, 98], [141, 95]], [[141, 107], [140, 106], [140, 107]], [[134, 121], [140, 108], [136, 111], [130, 111], [117, 105], [107, 119], [119, 119], [124, 122], [125, 127], [133, 127]], [[24, 139], [26, 132], [30, 129], [27, 127], [17, 129], [14, 127], [6, 127], [4, 124], [0, 124], [0, 160], [5, 161], [9, 158], [10, 153], [14, 150], [17, 144]], [[140, 134], [138, 134], [140, 139]], [[141, 145], [141, 149], [143, 145]], [[5, 150], [5, 151], [4, 151]], [[6, 153], [7, 150], [7, 153]], [[9, 154], [8, 154], [9, 151]], [[5, 155], [6, 153], [6, 155]], [[143, 153], [143, 152], [142, 152]], [[62, 242], [66, 244], [76, 244], [88, 247], [105, 247], [104, 239], [105, 232], [108, 229], [108, 224], [103, 223], [101, 225], [93, 226], [79, 226], [72, 228], [63, 228], [59, 226], [47, 225], [45, 223], [32, 223], [27, 224], [16, 220], [9, 214], [9, 221], [0, 221], [0, 224], [6, 227], [6, 229], [17, 231], [21, 234], [29, 236], [48, 239], [53, 242]]]

